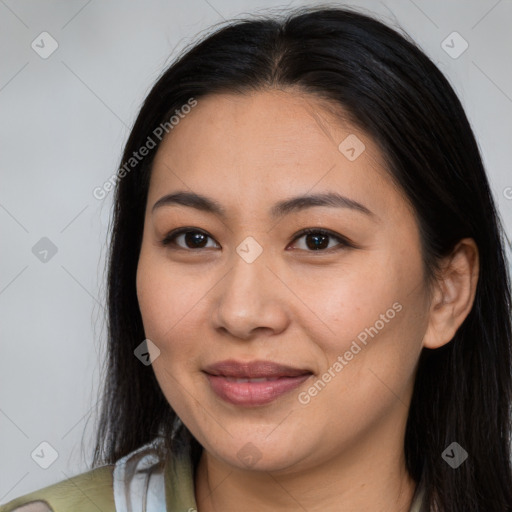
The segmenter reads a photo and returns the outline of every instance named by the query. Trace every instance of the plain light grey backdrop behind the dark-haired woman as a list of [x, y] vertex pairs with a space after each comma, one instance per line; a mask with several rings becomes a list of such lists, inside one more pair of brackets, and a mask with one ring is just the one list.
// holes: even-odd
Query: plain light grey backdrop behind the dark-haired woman
[[[510, 236], [512, 1], [324, 4], [402, 27], [445, 73]], [[208, 27], [302, 5], [314, 2], [0, 0], [1, 503], [91, 462], [112, 198], [92, 192], [116, 171], [143, 98]]]

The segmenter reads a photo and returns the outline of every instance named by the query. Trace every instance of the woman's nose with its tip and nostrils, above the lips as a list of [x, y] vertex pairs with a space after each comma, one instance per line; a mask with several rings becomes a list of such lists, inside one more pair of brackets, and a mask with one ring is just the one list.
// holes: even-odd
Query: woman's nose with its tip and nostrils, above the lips
[[267, 266], [264, 253], [252, 263], [236, 252], [231, 259], [230, 270], [215, 287], [214, 328], [242, 340], [284, 331], [290, 322], [290, 291]]

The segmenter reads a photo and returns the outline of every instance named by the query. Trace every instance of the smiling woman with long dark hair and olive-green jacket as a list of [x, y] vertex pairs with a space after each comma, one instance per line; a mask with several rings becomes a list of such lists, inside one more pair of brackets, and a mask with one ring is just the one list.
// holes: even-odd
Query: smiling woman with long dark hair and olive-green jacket
[[1, 512], [512, 510], [503, 230], [412, 42], [347, 9], [232, 22], [117, 178], [95, 469]]

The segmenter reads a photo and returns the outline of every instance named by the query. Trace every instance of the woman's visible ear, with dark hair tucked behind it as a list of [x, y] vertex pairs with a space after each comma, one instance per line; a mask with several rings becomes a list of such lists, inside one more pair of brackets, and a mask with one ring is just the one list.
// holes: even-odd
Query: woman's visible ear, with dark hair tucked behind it
[[449, 343], [471, 311], [479, 273], [475, 241], [472, 238], [460, 240], [440, 267], [423, 337], [423, 346], [431, 349]]

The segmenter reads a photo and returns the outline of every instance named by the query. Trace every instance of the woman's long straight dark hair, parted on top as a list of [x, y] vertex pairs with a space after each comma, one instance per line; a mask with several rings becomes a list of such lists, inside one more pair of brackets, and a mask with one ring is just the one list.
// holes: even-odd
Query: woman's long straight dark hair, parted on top
[[[144, 340], [135, 276], [155, 129], [193, 98], [294, 87], [341, 107], [384, 155], [413, 205], [429, 279], [464, 237], [479, 249], [473, 307], [450, 343], [423, 349], [410, 406], [405, 457], [430, 509], [512, 510], [510, 277], [504, 230], [474, 134], [452, 87], [405, 35], [352, 9], [317, 7], [239, 19], [187, 48], [147, 96], [119, 173], [110, 226], [108, 357], [93, 465], [114, 463], [157, 436], [176, 415], [151, 366], [134, 356]], [[158, 132], [159, 133], [159, 132]], [[131, 165], [130, 164], [130, 165]], [[199, 443], [181, 425], [193, 443]], [[457, 442], [468, 459], [452, 469]], [[167, 449], [173, 449], [169, 441]]]

